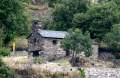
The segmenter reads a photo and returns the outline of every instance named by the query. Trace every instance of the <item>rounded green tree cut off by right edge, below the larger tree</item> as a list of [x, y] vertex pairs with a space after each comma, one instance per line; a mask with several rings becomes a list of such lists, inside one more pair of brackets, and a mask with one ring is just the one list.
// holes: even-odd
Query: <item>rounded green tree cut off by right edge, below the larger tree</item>
[[120, 50], [120, 24], [113, 26], [111, 32], [106, 34], [104, 42], [109, 48]]

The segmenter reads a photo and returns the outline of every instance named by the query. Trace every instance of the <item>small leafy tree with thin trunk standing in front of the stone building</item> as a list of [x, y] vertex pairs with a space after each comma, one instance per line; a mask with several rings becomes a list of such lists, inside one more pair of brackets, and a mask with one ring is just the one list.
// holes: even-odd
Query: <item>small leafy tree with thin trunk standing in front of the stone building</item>
[[72, 53], [72, 63], [76, 55], [85, 52], [86, 56], [91, 55], [91, 38], [88, 33], [82, 34], [79, 29], [70, 30], [66, 38], [62, 41], [62, 47]]

